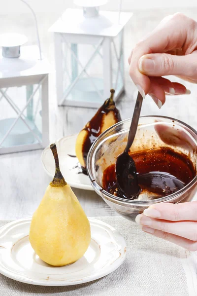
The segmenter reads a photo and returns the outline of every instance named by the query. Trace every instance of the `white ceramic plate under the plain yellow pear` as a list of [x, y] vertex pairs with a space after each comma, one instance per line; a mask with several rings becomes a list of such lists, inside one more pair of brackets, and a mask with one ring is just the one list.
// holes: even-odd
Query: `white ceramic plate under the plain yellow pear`
[[69, 286], [99, 279], [118, 268], [126, 257], [124, 238], [110, 225], [96, 219], [91, 243], [75, 263], [53, 267], [35, 254], [29, 242], [31, 218], [0, 228], [0, 273], [19, 282], [41, 286]]

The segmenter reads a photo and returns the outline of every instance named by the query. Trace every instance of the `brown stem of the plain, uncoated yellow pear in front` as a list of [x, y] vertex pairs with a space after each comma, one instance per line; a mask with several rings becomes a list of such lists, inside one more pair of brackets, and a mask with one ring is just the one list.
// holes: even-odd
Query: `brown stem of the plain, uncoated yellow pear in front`
[[61, 171], [60, 171], [60, 164], [59, 164], [59, 158], [58, 158], [58, 152], [57, 147], [55, 144], [50, 145], [50, 149], [53, 153], [54, 159], [55, 159], [55, 165], [56, 165], [56, 171], [55, 176], [53, 178], [53, 181], [50, 183], [52, 187], [60, 187], [67, 185], [65, 178], [63, 177]]

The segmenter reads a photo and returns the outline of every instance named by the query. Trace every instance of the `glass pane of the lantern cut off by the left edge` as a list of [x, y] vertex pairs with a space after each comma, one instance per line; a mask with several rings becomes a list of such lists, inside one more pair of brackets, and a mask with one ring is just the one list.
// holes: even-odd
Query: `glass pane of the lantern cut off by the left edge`
[[[1, 88], [1, 91], [3, 93], [0, 93], [0, 143], [2, 140], [3, 142], [0, 147], [39, 143], [42, 131], [41, 86], [23, 85]], [[19, 116], [22, 111], [22, 115]]]

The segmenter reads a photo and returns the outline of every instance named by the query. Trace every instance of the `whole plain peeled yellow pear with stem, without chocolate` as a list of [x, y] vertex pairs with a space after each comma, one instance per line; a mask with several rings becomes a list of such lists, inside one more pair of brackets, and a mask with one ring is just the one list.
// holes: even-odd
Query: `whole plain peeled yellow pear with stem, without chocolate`
[[90, 223], [59, 167], [57, 148], [50, 146], [56, 164], [53, 181], [33, 214], [30, 243], [40, 259], [63, 266], [80, 259], [90, 244]]

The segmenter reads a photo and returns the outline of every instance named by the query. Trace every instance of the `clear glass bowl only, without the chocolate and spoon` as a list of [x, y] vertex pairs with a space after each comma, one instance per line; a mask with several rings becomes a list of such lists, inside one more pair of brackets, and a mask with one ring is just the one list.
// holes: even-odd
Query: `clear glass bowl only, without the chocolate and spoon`
[[[191, 201], [197, 191], [197, 176], [182, 189], [168, 196], [148, 200], [128, 200], [105, 191], [102, 187], [104, 170], [116, 162], [127, 144], [131, 118], [118, 122], [103, 132], [94, 142], [87, 157], [87, 172], [94, 190], [117, 213], [134, 222], [135, 217], [150, 205], [160, 202]], [[141, 116], [131, 152], [172, 148], [189, 156], [197, 170], [197, 131], [177, 119], [164, 116]]]

